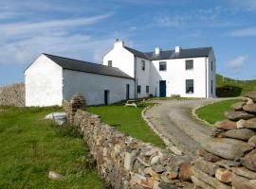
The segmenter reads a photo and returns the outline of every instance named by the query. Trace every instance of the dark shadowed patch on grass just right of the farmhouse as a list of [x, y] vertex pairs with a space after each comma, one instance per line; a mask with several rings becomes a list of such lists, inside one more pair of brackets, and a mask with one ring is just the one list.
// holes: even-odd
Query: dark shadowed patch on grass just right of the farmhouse
[[242, 88], [232, 85], [226, 85], [216, 88], [216, 94], [218, 97], [237, 97], [242, 94]]

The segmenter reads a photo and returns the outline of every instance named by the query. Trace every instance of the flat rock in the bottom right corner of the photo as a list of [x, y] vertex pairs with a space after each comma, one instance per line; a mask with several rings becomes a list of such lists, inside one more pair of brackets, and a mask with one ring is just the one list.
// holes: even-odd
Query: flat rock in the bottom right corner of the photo
[[232, 174], [232, 186], [235, 189], [255, 189], [256, 183], [248, 180], [247, 178], [237, 176], [236, 174]]

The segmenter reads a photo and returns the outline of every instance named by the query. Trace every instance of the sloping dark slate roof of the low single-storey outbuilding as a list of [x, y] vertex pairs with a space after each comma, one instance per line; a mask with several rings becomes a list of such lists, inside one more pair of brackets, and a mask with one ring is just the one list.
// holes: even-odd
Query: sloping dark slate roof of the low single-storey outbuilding
[[45, 53], [44, 55], [50, 60], [53, 60], [58, 65], [60, 65], [62, 68], [67, 70], [74, 70], [74, 71], [86, 72], [86, 73], [92, 73], [92, 74], [100, 74], [100, 75], [111, 76], [111, 77], [123, 77], [123, 78], [133, 79], [133, 77], [130, 77], [124, 72], [120, 71], [119, 68], [109, 67], [106, 65], [92, 63], [88, 61], [68, 59], [68, 58], [49, 55]]

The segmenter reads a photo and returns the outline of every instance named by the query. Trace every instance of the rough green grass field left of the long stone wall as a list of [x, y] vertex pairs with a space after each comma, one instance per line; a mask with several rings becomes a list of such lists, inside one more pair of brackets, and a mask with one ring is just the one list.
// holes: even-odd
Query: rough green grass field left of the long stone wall
[[58, 111], [0, 107], [0, 188], [104, 188], [78, 130], [43, 120]]

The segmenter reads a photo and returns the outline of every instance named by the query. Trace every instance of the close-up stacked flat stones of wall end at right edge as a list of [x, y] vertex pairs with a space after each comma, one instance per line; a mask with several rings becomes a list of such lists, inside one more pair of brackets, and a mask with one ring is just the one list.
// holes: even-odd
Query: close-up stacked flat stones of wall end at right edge
[[[202, 188], [256, 188], [256, 92], [251, 92], [217, 122], [210, 145], [192, 162], [192, 181]], [[212, 115], [214, 116], [214, 115]]]

